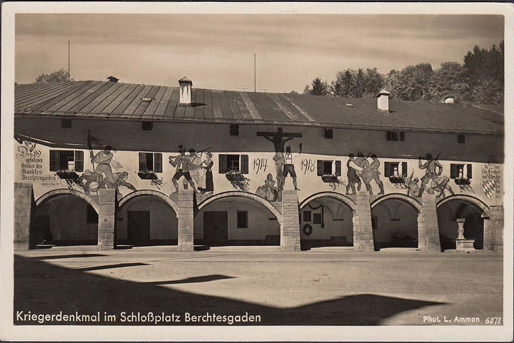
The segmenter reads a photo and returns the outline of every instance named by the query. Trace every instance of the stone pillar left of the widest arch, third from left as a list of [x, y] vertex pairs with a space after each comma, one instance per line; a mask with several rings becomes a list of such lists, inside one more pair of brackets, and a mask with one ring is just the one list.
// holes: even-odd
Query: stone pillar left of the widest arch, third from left
[[193, 190], [178, 193], [178, 251], [194, 250], [194, 204]]

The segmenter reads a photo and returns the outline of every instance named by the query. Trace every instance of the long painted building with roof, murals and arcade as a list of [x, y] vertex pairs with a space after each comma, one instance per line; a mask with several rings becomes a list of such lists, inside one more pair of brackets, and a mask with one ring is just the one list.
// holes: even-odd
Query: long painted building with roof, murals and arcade
[[183, 78], [19, 85], [14, 114], [18, 250], [503, 250], [498, 108]]

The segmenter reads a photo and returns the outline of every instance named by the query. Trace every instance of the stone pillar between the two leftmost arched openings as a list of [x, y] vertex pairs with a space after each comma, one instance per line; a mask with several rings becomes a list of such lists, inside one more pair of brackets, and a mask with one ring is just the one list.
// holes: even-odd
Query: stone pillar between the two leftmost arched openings
[[116, 225], [116, 190], [99, 190], [99, 250], [114, 250], [114, 227]]

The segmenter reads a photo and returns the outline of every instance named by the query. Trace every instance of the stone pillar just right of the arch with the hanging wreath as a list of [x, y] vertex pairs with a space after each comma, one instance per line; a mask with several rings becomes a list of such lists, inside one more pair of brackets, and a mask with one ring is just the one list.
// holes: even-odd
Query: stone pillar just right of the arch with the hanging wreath
[[367, 192], [356, 195], [356, 210], [353, 213], [353, 250], [374, 251], [371, 206]]

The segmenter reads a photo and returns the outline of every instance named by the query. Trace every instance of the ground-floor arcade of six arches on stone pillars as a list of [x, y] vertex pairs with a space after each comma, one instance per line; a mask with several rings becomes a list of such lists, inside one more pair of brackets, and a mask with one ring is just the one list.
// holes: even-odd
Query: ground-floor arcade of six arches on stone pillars
[[[16, 206], [19, 208], [16, 211], [19, 215], [16, 218], [16, 237], [24, 237], [18, 241], [17, 246], [24, 249], [34, 248], [37, 243], [35, 240], [47, 235], [45, 237], [61, 240], [64, 244], [95, 244], [99, 250], [112, 250], [116, 245], [142, 242], [149, 245], [176, 245], [178, 251], [193, 251], [194, 245], [206, 244], [206, 240], [212, 240], [211, 244], [220, 244], [219, 240], [216, 242], [219, 238], [216, 233], [206, 233], [211, 228], [203, 222], [204, 216], [216, 216], [216, 213], [227, 213], [226, 221], [230, 222], [226, 237], [222, 237], [221, 241], [232, 240], [238, 244], [261, 242], [279, 245], [284, 251], [299, 251], [308, 242], [310, 247], [348, 246], [353, 247], [353, 250], [369, 252], [386, 247], [387, 242], [393, 246], [390, 240], [384, 240], [380, 235], [392, 236], [394, 224], [397, 231], [406, 232], [403, 235], [395, 234], [396, 238], [404, 240], [403, 244], [417, 247], [421, 251], [441, 251], [446, 244], [443, 234], [448, 236], [450, 229], [455, 232], [455, 223], [450, 229], [447, 228], [448, 218], [445, 219], [445, 216], [448, 217], [448, 213], [453, 217], [463, 216], [470, 220], [480, 216], [483, 225], [479, 249], [502, 249], [499, 244], [502, 237], [498, 237], [496, 227], [503, 225], [503, 207], [488, 207], [469, 195], [438, 199], [430, 194], [422, 198], [410, 198], [399, 193], [376, 197], [360, 192], [348, 197], [336, 192], [320, 192], [299, 203], [295, 191], [283, 190], [282, 201], [270, 203], [258, 195], [241, 191], [216, 195], [193, 195], [191, 191], [183, 191], [166, 195], [156, 190], [138, 190], [117, 200], [116, 190], [106, 189], [100, 190], [98, 195], [86, 195], [76, 190], [58, 189], [34, 200], [31, 187], [31, 184], [26, 183], [15, 185]], [[77, 219], [80, 216], [69, 215], [70, 209], [66, 210], [65, 203], [71, 203], [76, 209], [84, 209], [81, 210], [80, 220]], [[158, 221], [167, 224], [152, 227], [148, 230], [148, 237], [137, 237], [137, 242], [132, 242], [129, 216], [137, 217], [138, 213], [145, 211], [153, 213], [151, 217], [154, 219], [161, 216]], [[250, 218], [251, 222], [257, 224], [244, 227], [244, 216], [240, 217], [240, 212], [249, 213], [246, 220]], [[54, 219], [49, 219], [50, 215], [54, 215]], [[53, 232], [45, 232], [44, 227], [41, 230], [45, 221], [50, 220], [52, 226], [51, 220], [59, 216], [65, 218], [66, 215], [74, 217], [74, 225], [63, 221], [61, 227], [56, 225], [56, 229], [52, 228]], [[376, 217], [379, 224], [381, 220], [394, 224], [377, 229], [374, 227], [377, 224], [374, 222]], [[402, 220], [406, 228], [401, 226]], [[66, 225], [76, 228], [73, 232], [66, 232], [62, 229]], [[269, 228], [256, 228], [265, 226]], [[39, 232], [35, 231], [36, 227], [39, 227]], [[407, 242], [410, 237], [415, 238], [415, 241]]]

